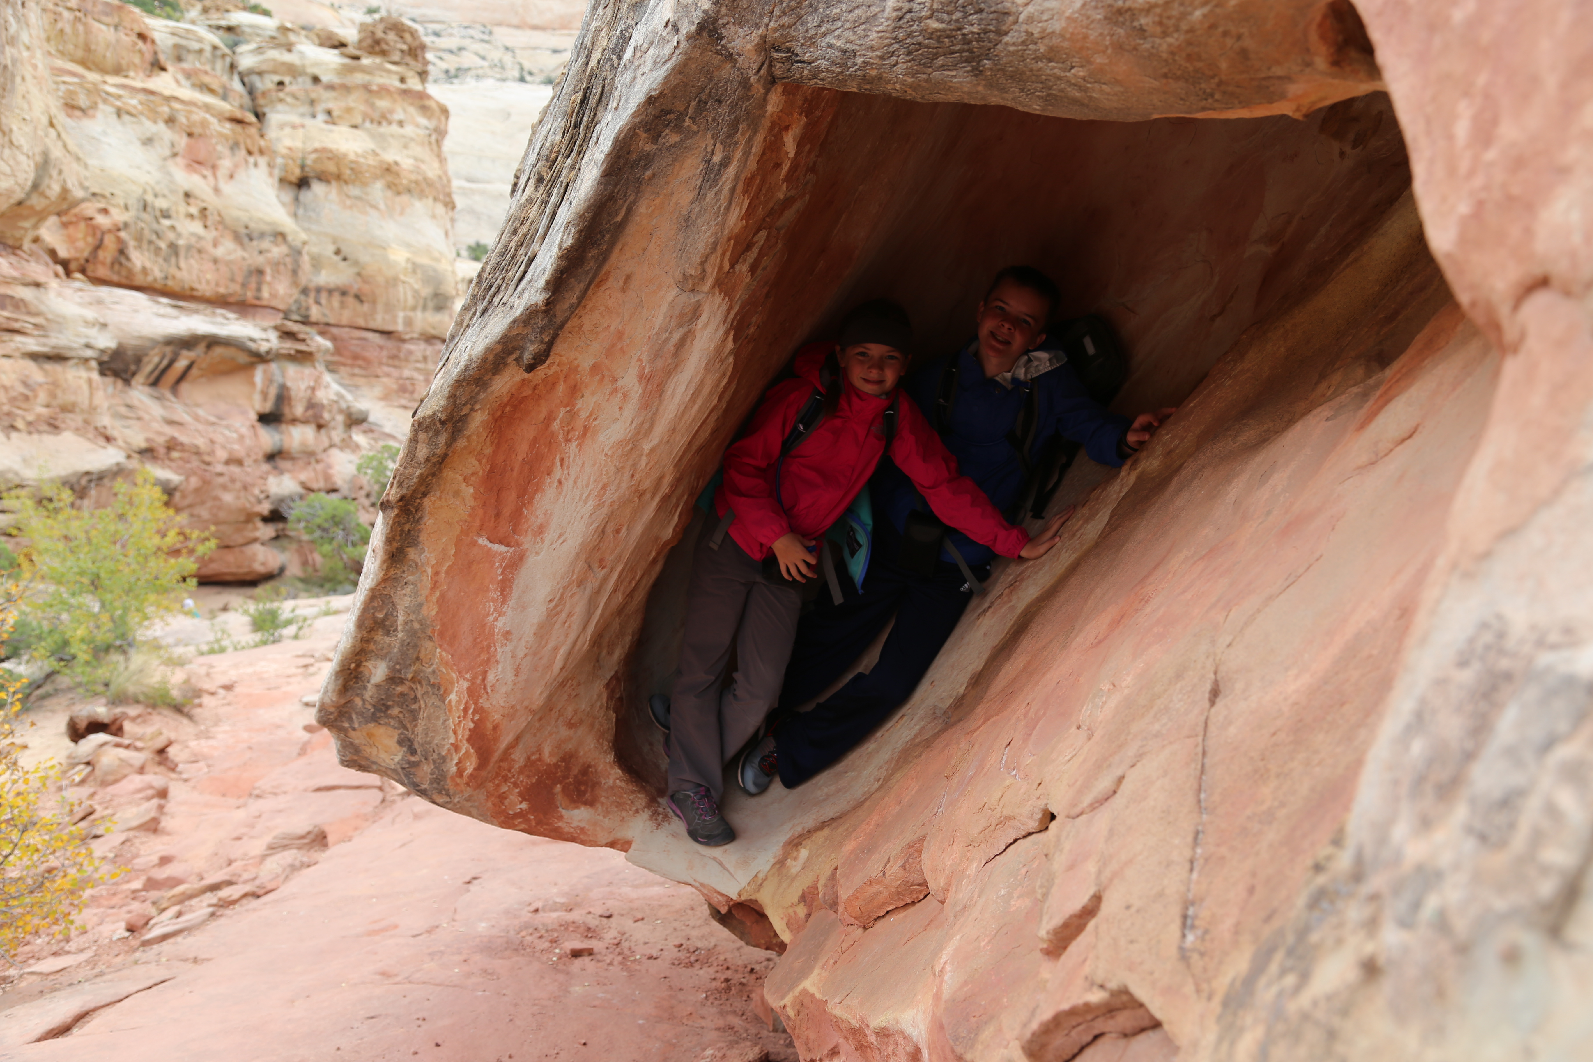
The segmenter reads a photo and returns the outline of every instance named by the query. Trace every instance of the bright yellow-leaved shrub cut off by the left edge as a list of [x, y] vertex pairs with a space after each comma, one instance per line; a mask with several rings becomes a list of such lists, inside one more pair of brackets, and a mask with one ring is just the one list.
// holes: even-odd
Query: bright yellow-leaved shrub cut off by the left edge
[[[0, 642], [11, 637], [18, 597], [16, 580], [0, 578]], [[70, 806], [51, 793], [56, 766], [22, 766], [22, 686], [21, 675], [0, 669], [0, 959], [8, 962], [33, 938], [78, 928], [83, 895], [115, 876], [72, 825]]]

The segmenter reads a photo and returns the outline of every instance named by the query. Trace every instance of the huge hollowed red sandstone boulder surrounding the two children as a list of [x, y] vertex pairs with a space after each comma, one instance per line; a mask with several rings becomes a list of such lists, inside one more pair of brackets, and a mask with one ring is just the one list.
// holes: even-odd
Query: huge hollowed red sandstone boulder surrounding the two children
[[[804, 1057], [1587, 1054], [1593, 27], [1039, 14], [596, 6], [319, 718], [693, 884], [784, 951]], [[890, 723], [693, 847], [644, 707], [691, 500], [849, 304], [949, 349], [1020, 260], [1177, 416], [1069, 473]]]

